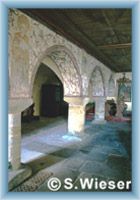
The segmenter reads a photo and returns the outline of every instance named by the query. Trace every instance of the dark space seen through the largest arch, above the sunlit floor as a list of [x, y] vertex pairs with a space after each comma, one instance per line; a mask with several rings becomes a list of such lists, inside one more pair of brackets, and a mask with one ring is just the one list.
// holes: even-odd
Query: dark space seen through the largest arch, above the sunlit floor
[[22, 134], [68, 118], [68, 103], [63, 100], [63, 84], [58, 76], [41, 63], [33, 86], [33, 104], [22, 112]]

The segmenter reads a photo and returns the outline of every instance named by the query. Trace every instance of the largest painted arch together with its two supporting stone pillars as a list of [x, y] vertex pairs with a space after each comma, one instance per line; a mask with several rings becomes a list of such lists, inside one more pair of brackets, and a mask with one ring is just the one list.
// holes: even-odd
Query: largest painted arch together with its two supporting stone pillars
[[[78, 112], [73, 112], [73, 108], [75, 109], [75, 106], [71, 108], [72, 111], [69, 113], [69, 121], [68, 121], [68, 130], [72, 132], [80, 132], [83, 129], [84, 126], [84, 120], [83, 120], [83, 113], [84, 110], [82, 106], [79, 106], [79, 103], [77, 105], [77, 99], [80, 99], [81, 96], [81, 79], [80, 79], [80, 73], [78, 71], [78, 65], [76, 62], [75, 57], [73, 54], [67, 49], [65, 46], [59, 46], [55, 45], [50, 48], [47, 48], [45, 51], [42, 52], [41, 56], [38, 56], [36, 64], [31, 66], [29, 68], [29, 98], [24, 99], [16, 99], [14, 102], [11, 102], [11, 112], [12, 115], [10, 116], [12, 123], [9, 126], [9, 140], [10, 140], [10, 147], [9, 147], [9, 161], [11, 163], [11, 166], [13, 169], [19, 169], [20, 168], [20, 159], [21, 159], [21, 112], [28, 108], [32, 103], [33, 99], [32, 97], [32, 91], [33, 91], [33, 85], [34, 80], [36, 77], [36, 73], [38, 71], [38, 68], [40, 67], [40, 64], [46, 57], [49, 57], [50, 60], [55, 63], [57, 70], [54, 69], [52, 66], [48, 66], [55, 72], [55, 74], [60, 78], [60, 80], [63, 83], [64, 87], [64, 95], [70, 96], [68, 98], [72, 98], [72, 100], [68, 103], [75, 103], [76, 109]], [[33, 70], [32, 70], [33, 69]], [[68, 79], [68, 81], [66, 80]], [[78, 97], [78, 98], [77, 98]], [[74, 98], [74, 100], [73, 100]], [[80, 101], [81, 102], [81, 101]], [[71, 104], [72, 104], [71, 103]], [[75, 116], [75, 113], [77, 114]], [[76, 123], [70, 123], [73, 122], [72, 119], [75, 117]], [[81, 118], [81, 120], [77, 120]], [[11, 139], [12, 138], [12, 139]], [[15, 145], [16, 144], [16, 145]]]

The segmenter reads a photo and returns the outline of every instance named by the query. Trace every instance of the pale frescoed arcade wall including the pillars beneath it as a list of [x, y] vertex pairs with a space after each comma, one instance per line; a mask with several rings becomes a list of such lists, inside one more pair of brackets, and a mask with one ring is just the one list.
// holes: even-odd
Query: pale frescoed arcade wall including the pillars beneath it
[[[36, 84], [41, 85], [44, 81], [48, 81], [46, 76], [42, 75], [42, 80], [38, 79], [38, 83], [35, 82], [36, 73], [42, 62], [47, 62], [48, 67], [63, 83], [64, 99], [67, 99], [70, 104], [68, 129], [72, 133], [81, 132], [84, 128], [84, 106], [85, 102], [88, 103], [89, 83], [94, 69], [99, 67], [104, 94], [95, 97], [95, 101], [98, 118], [104, 117], [104, 99], [108, 95], [108, 82], [113, 74], [107, 66], [19, 10], [9, 11], [8, 33], [9, 113], [10, 116], [13, 115], [14, 121], [19, 119], [21, 112], [32, 104], [33, 93], [35, 96], [38, 95], [39, 90], [33, 91]], [[118, 74], [115, 76], [115, 81], [118, 76]], [[99, 79], [96, 77], [96, 80]], [[98, 87], [98, 81], [93, 87]], [[75, 123], [72, 123], [73, 120]], [[20, 120], [19, 124], [15, 125], [11, 122], [9, 126], [9, 160], [13, 169], [20, 166], [20, 127]]]

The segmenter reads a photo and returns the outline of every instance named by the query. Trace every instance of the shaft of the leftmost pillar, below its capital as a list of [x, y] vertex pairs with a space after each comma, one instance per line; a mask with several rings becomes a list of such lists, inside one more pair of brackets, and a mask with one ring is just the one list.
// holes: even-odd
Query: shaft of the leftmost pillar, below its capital
[[21, 157], [21, 113], [9, 114], [8, 161], [13, 170], [20, 168]]

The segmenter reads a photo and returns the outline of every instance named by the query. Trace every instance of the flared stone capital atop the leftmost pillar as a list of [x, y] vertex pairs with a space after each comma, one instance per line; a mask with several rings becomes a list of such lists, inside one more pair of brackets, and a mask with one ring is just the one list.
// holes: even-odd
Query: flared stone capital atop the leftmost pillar
[[32, 103], [32, 98], [11, 98], [9, 99], [9, 113], [21, 113]]

